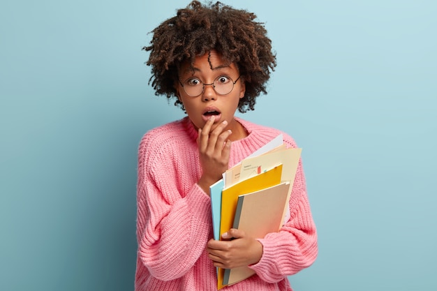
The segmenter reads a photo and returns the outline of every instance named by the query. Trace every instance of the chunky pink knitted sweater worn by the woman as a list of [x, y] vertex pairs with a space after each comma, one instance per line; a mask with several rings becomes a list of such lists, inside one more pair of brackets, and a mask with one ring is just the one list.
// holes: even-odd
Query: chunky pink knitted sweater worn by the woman
[[[249, 135], [232, 142], [230, 167], [281, 133], [237, 121]], [[135, 291], [217, 290], [216, 268], [205, 249], [212, 238], [212, 218], [209, 196], [197, 184], [202, 174], [197, 135], [186, 117], [150, 130], [140, 143]], [[296, 147], [290, 136], [283, 137], [287, 147]], [[250, 266], [256, 274], [223, 291], [292, 290], [287, 276], [316, 260], [316, 227], [302, 163], [292, 188], [290, 216], [278, 233], [259, 240], [262, 258]]]

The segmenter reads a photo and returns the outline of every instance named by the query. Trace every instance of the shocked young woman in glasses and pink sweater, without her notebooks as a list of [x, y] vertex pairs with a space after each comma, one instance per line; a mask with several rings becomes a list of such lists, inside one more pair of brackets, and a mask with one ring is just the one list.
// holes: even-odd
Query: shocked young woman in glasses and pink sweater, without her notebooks
[[276, 66], [267, 31], [246, 10], [193, 1], [153, 32], [145, 47], [152, 85], [187, 117], [140, 143], [135, 290], [216, 290], [216, 267], [242, 266], [255, 275], [225, 290], [291, 290], [287, 276], [309, 267], [318, 251], [302, 163], [279, 232], [254, 239], [230, 229], [225, 240], [212, 238], [209, 186], [281, 133], [235, 117], [266, 93]]

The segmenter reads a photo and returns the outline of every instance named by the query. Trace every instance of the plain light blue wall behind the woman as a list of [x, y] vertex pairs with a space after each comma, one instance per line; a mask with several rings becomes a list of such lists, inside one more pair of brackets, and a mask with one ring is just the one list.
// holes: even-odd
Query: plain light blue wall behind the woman
[[[184, 116], [141, 47], [187, 3], [1, 2], [0, 290], [133, 290], [138, 143]], [[437, 2], [232, 5], [279, 64], [242, 116], [304, 150], [320, 252], [293, 288], [436, 290]]]

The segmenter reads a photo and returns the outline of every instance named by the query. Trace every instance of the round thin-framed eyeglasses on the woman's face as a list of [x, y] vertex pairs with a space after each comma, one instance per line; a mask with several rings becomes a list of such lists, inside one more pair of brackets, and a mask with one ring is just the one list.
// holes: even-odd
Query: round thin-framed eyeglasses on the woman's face
[[181, 86], [184, 89], [186, 95], [191, 97], [199, 96], [205, 90], [205, 86], [209, 85], [212, 85], [212, 88], [214, 89], [214, 91], [216, 91], [216, 94], [228, 95], [234, 89], [234, 85], [239, 80], [239, 77], [241, 77], [241, 75], [237, 77], [237, 80], [233, 81], [231, 77], [222, 75], [216, 77], [216, 80], [214, 80], [214, 82], [212, 82], [211, 84], [205, 84], [197, 77], [191, 77], [184, 82], [181, 82], [181, 80], [179, 79], [179, 83], [181, 83]]

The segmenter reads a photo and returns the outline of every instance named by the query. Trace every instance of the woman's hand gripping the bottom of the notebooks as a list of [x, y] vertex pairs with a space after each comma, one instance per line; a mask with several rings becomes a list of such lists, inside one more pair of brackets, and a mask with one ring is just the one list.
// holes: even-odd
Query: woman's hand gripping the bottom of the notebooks
[[248, 237], [242, 230], [231, 228], [221, 236], [227, 241], [210, 239], [207, 244], [208, 257], [215, 267], [233, 269], [256, 264], [262, 257], [260, 241]]

